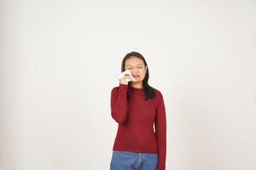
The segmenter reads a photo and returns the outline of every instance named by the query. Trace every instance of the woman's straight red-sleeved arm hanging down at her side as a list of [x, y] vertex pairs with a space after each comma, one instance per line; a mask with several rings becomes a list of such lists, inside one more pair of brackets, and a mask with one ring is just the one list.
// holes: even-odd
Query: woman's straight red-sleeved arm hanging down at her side
[[160, 94], [159, 105], [156, 108], [155, 133], [158, 146], [157, 170], [166, 169], [166, 108], [162, 94]]

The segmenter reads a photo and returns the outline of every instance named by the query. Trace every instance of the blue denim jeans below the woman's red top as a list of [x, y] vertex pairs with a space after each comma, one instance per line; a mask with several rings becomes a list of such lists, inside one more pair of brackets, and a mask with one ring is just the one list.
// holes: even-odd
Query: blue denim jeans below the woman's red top
[[158, 154], [113, 150], [110, 170], [155, 170]]

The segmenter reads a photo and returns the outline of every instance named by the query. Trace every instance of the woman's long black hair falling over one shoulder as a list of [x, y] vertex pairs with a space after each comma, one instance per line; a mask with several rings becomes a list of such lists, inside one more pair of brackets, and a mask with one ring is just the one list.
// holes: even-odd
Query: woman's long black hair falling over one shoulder
[[[147, 71], [146, 71], [145, 77], [143, 79], [143, 91], [144, 91], [146, 100], [154, 99], [156, 94], [155, 94], [154, 88], [152, 88], [148, 84], [148, 78], [149, 78], [148, 64], [147, 64], [146, 59], [144, 59], [142, 54], [139, 54], [135, 51], [132, 51], [131, 53], [126, 54], [125, 58], [122, 60], [121, 72], [125, 71], [125, 61], [126, 61], [126, 59], [129, 59], [130, 57], [137, 57], [139, 59], [143, 59], [144, 65], [145, 66], [147, 65]], [[130, 83], [131, 82], [128, 82], [128, 85], [130, 85]], [[127, 99], [129, 100], [129, 95], [127, 95]]]

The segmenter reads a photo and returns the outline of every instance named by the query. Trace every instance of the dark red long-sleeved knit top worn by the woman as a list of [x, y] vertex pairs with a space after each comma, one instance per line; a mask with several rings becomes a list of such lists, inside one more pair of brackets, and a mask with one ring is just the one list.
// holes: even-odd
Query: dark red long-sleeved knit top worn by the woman
[[143, 88], [119, 83], [112, 89], [111, 116], [119, 123], [113, 150], [158, 153], [157, 170], [165, 170], [166, 108], [163, 95], [154, 90], [156, 98], [145, 100]]

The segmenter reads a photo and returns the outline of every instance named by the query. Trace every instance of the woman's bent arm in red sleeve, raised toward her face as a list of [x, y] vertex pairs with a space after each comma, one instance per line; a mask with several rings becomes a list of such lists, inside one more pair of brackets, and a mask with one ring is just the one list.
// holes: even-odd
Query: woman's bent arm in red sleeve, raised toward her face
[[128, 85], [119, 83], [119, 88], [111, 91], [111, 116], [115, 122], [125, 122], [127, 116], [127, 88]]

